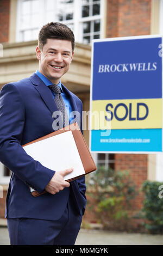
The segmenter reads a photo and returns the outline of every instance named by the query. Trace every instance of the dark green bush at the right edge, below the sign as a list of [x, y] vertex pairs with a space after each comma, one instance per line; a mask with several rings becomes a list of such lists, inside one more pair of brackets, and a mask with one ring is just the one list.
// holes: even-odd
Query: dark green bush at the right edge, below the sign
[[[145, 193], [143, 202], [144, 225], [151, 234], [163, 234], [163, 198], [159, 187], [163, 182], [145, 181], [142, 191]], [[163, 195], [163, 192], [162, 192]]]

